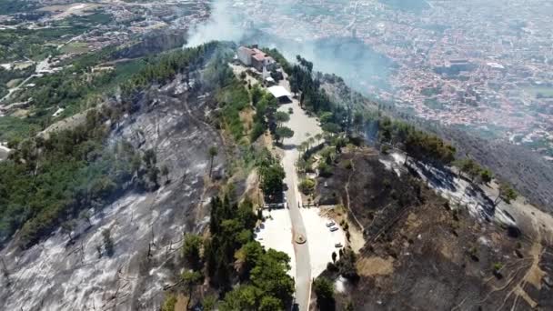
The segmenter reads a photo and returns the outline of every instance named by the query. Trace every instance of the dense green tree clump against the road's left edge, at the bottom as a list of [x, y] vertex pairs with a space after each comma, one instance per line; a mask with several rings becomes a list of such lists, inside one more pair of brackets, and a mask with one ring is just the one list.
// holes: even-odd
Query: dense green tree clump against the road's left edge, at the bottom
[[[251, 202], [232, 205], [227, 198], [212, 200], [206, 242], [206, 270], [213, 285], [224, 292], [236, 276], [240, 286], [226, 293], [220, 310], [270, 310], [289, 306], [294, 280], [287, 276], [290, 258], [273, 249], [264, 250], [253, 239], [256, 216]], [[233, 268], [233, 266], [235, 268]]]

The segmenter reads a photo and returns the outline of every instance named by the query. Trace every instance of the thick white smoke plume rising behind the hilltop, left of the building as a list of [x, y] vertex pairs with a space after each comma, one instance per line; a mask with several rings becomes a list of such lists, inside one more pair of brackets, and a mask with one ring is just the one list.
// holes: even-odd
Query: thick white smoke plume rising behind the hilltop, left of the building
[[202, 45], [210, 41], [240, 41], [245, 28], [239, 25], [236, 16], [232, 15], [229, 1], [219, 0], [211, 5], [211, 15], [205, 24], [196, 25], [190, 32], [186, 47]]

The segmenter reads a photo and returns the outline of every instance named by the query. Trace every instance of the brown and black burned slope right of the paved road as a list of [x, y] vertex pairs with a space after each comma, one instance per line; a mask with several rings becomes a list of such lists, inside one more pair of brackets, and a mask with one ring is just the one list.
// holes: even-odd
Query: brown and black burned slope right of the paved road
[[348, 303], [356, 310], [553, 306], [547, 225], [530, 213], [514, 216], [521, 231], [488, 222], [437, 196], [407, 169], [387, 167], [390, 161], [371, 149], [347, 152], [335, 163], [351, 165], [335, 165], [333, 176], [319, 180], [327, 185], [317, 189], [321, 199], [336, 192], [349, 207], [349, 225], [358, 221], [366, 239], [355, 259], [357, 282], [339, 276], [343, 267], [325, 273], [339, 288], [337, 309]]

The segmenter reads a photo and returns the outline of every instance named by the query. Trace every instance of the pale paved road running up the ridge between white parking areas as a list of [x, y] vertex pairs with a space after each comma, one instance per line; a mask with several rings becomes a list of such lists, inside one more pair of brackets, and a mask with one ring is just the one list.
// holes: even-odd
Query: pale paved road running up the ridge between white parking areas
[[[287, 81], [281, 81], [280, 85], [290, 90]], [[294, 136], [284, 140], [282, 165], [287, 174], [285, 178], [285, 183], [288, 186], [287, 203], [294, 236], [301, 234], [307, 237], [305, 244], [294, 244], [294, 251], [296, 253], [296, 303], [300, 311], [307, 311], [309, 309], [311, 293], [311, 261], [308, 246], [309, 236], [307, 236], [306, 227], [304, 226], [298, 207], [298, 202], [301, 202], [301, 196], [297, 189], [299, 185], [296, 173], [296, 161], [299, 156], [297, 145], [306, 141], [310, 135], [322, 133], [322, 130], [317, 125], [317, 120], [308, 117], [299, 107], [297, 100], [294, 100], [291, 104], [281, 105], [278, 110], [287, 112], [289, 108], [292, 108], [294, 113], [290, 115], [290, 121], [287, 122], [287, 126], [294, 131]]]

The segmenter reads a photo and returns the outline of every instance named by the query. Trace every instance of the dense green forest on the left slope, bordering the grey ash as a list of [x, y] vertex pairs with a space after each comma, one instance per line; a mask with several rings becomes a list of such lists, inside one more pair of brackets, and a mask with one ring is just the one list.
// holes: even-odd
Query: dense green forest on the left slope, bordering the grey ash
[[135, 151], [124, 143], [104, 148], [106, 119], [91, 111], [73, 131], [15, 145], [10, 160], [0, 163], [0, 241], [21, 227], [21, 246], [30, 246], [83, 206], [106, 202], [130, 179]]

